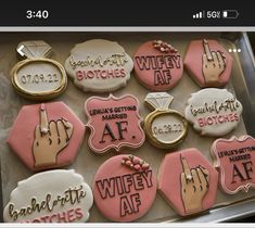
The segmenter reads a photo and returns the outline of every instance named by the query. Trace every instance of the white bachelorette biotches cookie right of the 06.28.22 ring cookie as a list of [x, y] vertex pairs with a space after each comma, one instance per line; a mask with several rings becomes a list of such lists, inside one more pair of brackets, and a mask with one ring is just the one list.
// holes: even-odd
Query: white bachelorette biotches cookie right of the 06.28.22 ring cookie
[[242, 110], [227, 89], [207, 88], [191, 94], [186, 118], [202, 136], [224, 136], [238, 126]]

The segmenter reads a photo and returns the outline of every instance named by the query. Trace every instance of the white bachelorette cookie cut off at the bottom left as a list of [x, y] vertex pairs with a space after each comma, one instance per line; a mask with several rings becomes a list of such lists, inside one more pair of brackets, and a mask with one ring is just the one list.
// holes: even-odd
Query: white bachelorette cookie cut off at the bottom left
[[3, 211], [5, 223], [84, 223], [93, 203], [84, 177], [72, 170], [38, 173], [17, 183]]

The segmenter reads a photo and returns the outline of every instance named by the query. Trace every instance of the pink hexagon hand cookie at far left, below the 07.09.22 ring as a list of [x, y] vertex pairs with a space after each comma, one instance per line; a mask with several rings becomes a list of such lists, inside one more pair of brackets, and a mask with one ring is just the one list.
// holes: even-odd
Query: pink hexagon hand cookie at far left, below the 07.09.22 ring
[[25, 105], [8, 143], [31, 170], [69, 165], [76, 157], [85, 126], [63, 102]]

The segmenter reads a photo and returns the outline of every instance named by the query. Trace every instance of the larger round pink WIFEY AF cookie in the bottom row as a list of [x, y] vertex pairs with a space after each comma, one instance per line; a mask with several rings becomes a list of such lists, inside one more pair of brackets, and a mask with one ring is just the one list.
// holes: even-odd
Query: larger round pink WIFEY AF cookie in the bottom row
[[99, 211], [114, 221], [143, 216], [156, 197], [156, 177], [150, 164], [133, 155], [116, 155], [104, 162], [93, 180]]

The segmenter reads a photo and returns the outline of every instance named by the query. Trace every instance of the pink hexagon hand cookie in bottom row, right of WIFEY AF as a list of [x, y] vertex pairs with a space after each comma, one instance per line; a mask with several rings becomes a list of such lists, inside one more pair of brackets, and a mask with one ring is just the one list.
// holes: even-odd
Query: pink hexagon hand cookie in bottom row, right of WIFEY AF
[[162, 162], [158, 190], [181, 216], [214, 205], [218, 173], [194, 148], [169, 153]]

